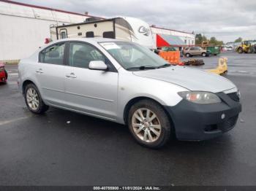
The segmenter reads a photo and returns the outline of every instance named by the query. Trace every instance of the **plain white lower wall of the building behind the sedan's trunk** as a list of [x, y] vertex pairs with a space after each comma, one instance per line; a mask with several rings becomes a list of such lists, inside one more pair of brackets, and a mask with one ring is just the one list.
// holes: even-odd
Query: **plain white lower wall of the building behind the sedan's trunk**
[[0, 61], [18, 60], [31, 55], [50, 37], [54, 21], [0, 15]]

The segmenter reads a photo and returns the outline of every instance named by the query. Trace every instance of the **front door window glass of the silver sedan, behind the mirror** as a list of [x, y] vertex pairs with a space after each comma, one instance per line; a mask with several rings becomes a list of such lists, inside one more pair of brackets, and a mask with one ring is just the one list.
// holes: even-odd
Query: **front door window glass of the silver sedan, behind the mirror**
[[69, 66], [88, 69], [91, 61], [104, 61], [106, 63], [105, 56], [95, 47], [89, 44], [70, 42]]

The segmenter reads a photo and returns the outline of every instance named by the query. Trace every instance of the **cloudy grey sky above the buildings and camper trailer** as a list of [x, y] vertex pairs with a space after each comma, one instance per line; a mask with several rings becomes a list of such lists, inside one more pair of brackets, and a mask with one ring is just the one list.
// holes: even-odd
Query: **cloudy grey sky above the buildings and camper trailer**
[[232, 42], [256, 39], [256, 0], [14, 0], [99, 17], [138, 17], [148, 24]]

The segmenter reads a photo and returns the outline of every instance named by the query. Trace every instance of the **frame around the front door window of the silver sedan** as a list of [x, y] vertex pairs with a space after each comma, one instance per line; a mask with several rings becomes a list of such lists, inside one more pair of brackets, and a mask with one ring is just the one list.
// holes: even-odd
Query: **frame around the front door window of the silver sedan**
[[[86, 45], [89, 45], [91, 47], [94, 47], [95, 50], [97, 50], [99, 53], [101, 53], [106, 59], [108, 59], [106, 57], [106, 55], [101, 51], [99, 50], [97, 47], [95, 47], [93, 44], [90, 44], [88, 42], [83, 42], [83, 41], [69, 41], [69, 42], [66, 42], [66, 45], [65, 45], [65, 51], [64, 51], [64, 63], [66, 63], [67, 66], [70, 66], [70, 67], [74, 67], [74, 66], [71, 66], [70, 63], [69, 63], [69, 51], [70, 51], [70, 42], [76, 42], [76, 43], [80, 43], [80, 44], [86, 44]], [[67, 51], [66, 51], [67, 49]], [[65, 56], [66, 55], [66, 56]], [[115, 66], [113, 66], [113, 63], [111, 63], [111, 61], [108, 59], [108, 63], [106, 63], [109, 67], [108, 71], [110, 72], [118, 72], [117, 69], [115, 68]], [[80, 69], [84, 69], [84, 68], [80, 68]]]

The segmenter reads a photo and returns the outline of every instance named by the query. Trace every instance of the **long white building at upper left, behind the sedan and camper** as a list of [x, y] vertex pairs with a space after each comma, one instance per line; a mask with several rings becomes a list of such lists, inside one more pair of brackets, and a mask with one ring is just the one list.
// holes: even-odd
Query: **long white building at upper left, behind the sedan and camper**
[[31, 55], [50, 37], [50, 25], [81, 23], [89, 15], [0, 0], [0, 61]]

